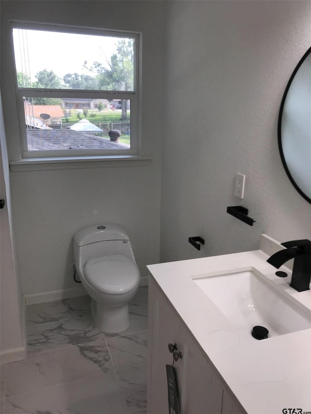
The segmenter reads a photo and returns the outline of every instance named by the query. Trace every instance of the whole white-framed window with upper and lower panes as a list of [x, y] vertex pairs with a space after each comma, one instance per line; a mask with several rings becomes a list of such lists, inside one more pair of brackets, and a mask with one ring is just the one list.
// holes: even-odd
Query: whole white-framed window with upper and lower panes
[[22, 158], [138, 153], [138, 34], [14, 23]]

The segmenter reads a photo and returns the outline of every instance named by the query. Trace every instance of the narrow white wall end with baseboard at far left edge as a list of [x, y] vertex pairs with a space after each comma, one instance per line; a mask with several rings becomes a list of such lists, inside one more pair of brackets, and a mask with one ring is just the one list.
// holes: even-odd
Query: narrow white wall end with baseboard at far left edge
[[[3, 158], [3, 163], [2, 163]], [[5, 141], [0, 96], [0, 199], [5, 200], [0, 210], [0, 362], [24, 359], [25, 307], [18, 273], [18, 260], [14, 248], [13, 220], [9, 165]]]

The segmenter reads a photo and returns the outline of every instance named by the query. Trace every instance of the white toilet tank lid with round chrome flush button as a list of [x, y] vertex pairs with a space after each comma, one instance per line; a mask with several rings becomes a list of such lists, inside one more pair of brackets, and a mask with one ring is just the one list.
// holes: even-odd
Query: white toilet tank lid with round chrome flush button
[[126, 230], [117, 224], [97, 224], [95, 226], [86, 227], [74, 235], [74, 241], [78, 246], [108, 240], [129, 239]]

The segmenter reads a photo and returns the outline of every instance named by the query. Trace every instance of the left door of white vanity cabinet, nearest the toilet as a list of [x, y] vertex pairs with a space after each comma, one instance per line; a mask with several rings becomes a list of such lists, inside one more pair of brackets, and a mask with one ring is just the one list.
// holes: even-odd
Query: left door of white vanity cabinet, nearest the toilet
[[[168, 345], [179, 344], [180, 321], [153, 281], [149, 281], [148, 414], [168, 414], [166, 364], [173, 364]], [[180, 359], [174, 363], [177, 384], [182, 384]]]

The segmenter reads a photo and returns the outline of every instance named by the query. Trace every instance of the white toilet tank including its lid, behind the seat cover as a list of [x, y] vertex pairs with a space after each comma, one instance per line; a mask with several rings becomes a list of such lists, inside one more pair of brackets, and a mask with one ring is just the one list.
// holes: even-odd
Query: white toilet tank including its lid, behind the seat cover
[[79, 269], [89, 259], [111, 254], [123, 254], [136, 263], [129, 236], [121, 226], [105, 224], [86, 227], [77, 232], [73, 240], [74, 261]]

